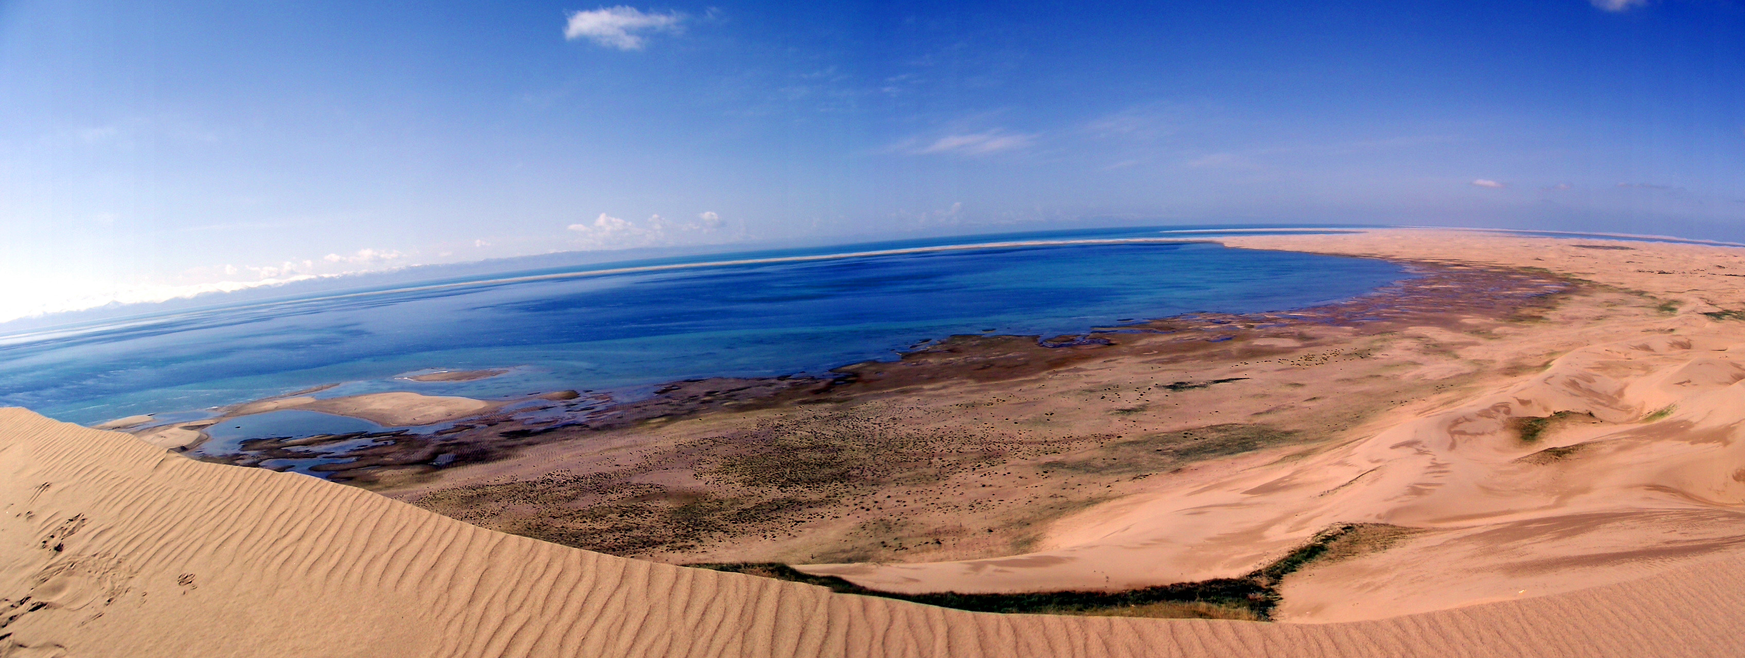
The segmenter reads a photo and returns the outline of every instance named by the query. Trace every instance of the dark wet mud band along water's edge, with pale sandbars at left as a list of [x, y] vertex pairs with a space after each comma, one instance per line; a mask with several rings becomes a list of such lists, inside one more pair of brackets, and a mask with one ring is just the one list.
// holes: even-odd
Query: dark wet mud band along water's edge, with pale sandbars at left
[[[1476, 298], [1462, 298], [1462, 291], [1485, 290], [1488, 295], [1504, 295], [1515, 304], [1532, 298], [1565, 293], [1574, 283], [1539, 272], [1516, 272], [1508, 269], [1469, 269], [1462, 265], [1424, 264], [1398, 258], [1389, 260], [1405, 269], [1408, 278], [1375, 288], [1365, 295], [1319, 304], [1302, 309], [1263, 311], [1263, 312], [1188, 312], [1159, 319], [1141, 319], [1117, 326], [1091, 326], [1085, 333], [1068, 333], [1057, 337], [1045, 335], [982, 335], [960, 333], [944, 339], [925, 340], [918, 347], [897, 351], [895, 361], [857, 361], [831, 368], [829, 374], [790, 374], [778, 377], [696, 377], [649, 386], [647, 398], [614, 401], [611, 393], [593, 393], [586, 400], [569, 403], [581, 394], [569, 391], [529, 393], [510, 400], [428, 396], [415, 391], [370, 393], [342, 398], [309, 398], [309, 393], [325, 391], [340, 384], [323, 384], [300, 391], [230, 405], [206, 421], [178, 422], [171, 426], [136, 428], [140, 436], [155, 436], [154, 445], [197, 450], [206, 435], [194, 438], [188, 429], [201, 431], [206, 426], [274, 410], [298, 408], [342, 417], [356, 417], [384, 426], [377, 433], [335, 433], [325, 440], [290, 438], [274, 442], [272, 436], [258, 436], [244, 443], [253, 454], [211, 454], [206, 461], [234, 466], [258, 466], [270, 459], [309, 459], [309, 450], [319, 450], [330, 443], [354, 443], [358, 438], [386, 440], [387, 445], [368, 445], [359, 450], [318, 454], [321, 459], [352, 459], [349, 463], [318, 464], [312, 471], [337, 482], [358, 478], [347, 471], [368, 471], [380, 466], [417, 466], [433, 470], [462, 466], [468, 463], [489, 463], [513, 456], [517, 450], [544, 443], [536, 436], [553, 431], [612, 431], [642, 422], [670, 422], [710, 412], [745, 412], [784, 405], [841, 405], [855, 396], [876, 394], [888, 389], [921, 386], [989, 382], [1030, 377], [1040, 372], [1073, 367], [1098, 358], [1124, 354], [1103, 354], [1098, 349], [1115, 347], [1124, 335], [1171, 335], [1174, 346], [1162, 351], [1187, 354], [1195, 351], [1201, 340], [1218, 344], [1237, 337], [1260, 340], [1256, 347], [1298, 347], [1300, 342], [1290, 337], [1269, 337], [1272, 333], [1291, 333], [1304, 325], [1359, 328], [1370, 323], [1398, 323], [1405, 316], [1426, 316], [1438, 312], [1436, 307], [1478, 311]], [[1509, 288], [1515, 284], [1515, 288]], [[1452, 304], [1452, 305], [1450, 305]], [[1466, 305], [1462, 305], [1466, 304]], [[1206, 332], [1206, 333], [1194, 333]], [[1260, 332], [1263, 335], [1246, 335]], [[1361, 332], [1359, 332], [1361, 333]], [[1272, 340], [1269, 344], [1269, 340]], [[506, 374], [513, 368], [482, 370], [436, 370], [429, 375], [441, 379], [422, 380], [471, 380]], [[400, 379], [421, 380], [410, 375]], [[1197, 386], [1194, 382], [1171, 382], [1169, 386]], [[553, 400], [557, 398], [557, 400]], [[557, 405], [525, 407], [529, 401], [546, 400]], [[494, 414], [504, 407], [518, 407], [508, 414]], [[565, 408], [567, 407], [567, 408]], [[581, 408], [579, 412], [576, 408]], [[536, 414], [532, 419], [518, 417], [529, 412], [548, 412], [546, 417]], [[113, 422], [113, 421], [112, 421]], [[450, 450], [429, 449], [429, 440], [415, 438], [407, 429], [431, 424], [454, 424], [438, 429], [450, 443], [476, 440], [476, 435], [496, 435], [497, 445], [483, 450], [475, 445]], [[489, 428], [489, 429], [485, 429]], [[168, 429], [168, 435], [166, 435]], [[178, 431], [180, 429], [180, 431]], [[558, 438], [567, 440], [567, 438]], [[401, 443], [412, 443], [401, 447]], [[504, 445], [508, 443], [508, 445]], [[295, 447], [297, 450], [288, 450]], [[435, 450], [435, 452], [431, 452]], [[448, 456], [448, 457], [445, 457]], [[352, 468], [344, 468], [352, 466]], [[283, 466], [279, 470], [286, 470]], [[311, 473], [314, 475], [314, 473]]]

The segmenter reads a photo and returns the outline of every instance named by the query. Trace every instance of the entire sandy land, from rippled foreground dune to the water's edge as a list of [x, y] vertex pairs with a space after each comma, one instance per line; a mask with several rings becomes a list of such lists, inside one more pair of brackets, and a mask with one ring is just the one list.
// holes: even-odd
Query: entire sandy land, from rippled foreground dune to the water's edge
[[[384, 396], [346, 412], [462, 422], [359, 487], [3, 410], [0, 655], [1745, 649], [1745, 250], [1223, 241], [1415, 276], [537, 417]], [[1098, 602], [1166, 590], [1215, 595]]]

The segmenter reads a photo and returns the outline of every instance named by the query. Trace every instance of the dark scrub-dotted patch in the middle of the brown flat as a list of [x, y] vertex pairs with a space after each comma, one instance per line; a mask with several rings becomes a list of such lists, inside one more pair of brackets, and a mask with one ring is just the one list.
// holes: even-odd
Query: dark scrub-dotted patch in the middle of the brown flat
[[[768, 421], [722, 436], [625, 456], [600, 471], [429, 492], [414, 504], [494, 531], [611, 555], [693, 550], [728, 536], [782, 536], [794, 525], [878, 513], [860, 501], [883, 487], [932, 485], [986, 470], [1012, 447], [956, 431], [918, 431], [878, 417], [824, 414]], [[661, 470], [691, 471], [700, 487], [642, 482]], [[1050, 508], [1052, 510], [1052, 508]], [[1068, 508], [1061, 508], [1066, 513]], [[1050, 511], [1056, 513], [1056, 511]], [[893, 531], [892, 531], [893, 532]], [[935, 536], [869, 532], [845, 550], [871, 557], [888, 545]], [[864, 550], [864, 552], [862, 552]]]

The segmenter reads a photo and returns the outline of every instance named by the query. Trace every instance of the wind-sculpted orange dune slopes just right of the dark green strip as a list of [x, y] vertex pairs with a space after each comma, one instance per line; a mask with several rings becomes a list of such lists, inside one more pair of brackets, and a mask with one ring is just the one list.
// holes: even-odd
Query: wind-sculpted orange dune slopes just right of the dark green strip
[[[1745, 346], [1745, 337], [1733, 340]], [[1375, 522], [1426, 532], [1393, 550], [1391, 569], [1368, 576], [1372, 593], [1391, 590], [1386, 597], [1399, 600], [1363, 597], [1361, 611], [1340, 618], [1635, 578], [1745, 548], [1745, 360], [1735, 361], [1742, 351], [1733, 347], [1654, 337], [1577, 349], [1513, 386], [1295, 463], [1087, 510], [1061, 522], [1057, 548], [1023, 559], [804, 571], [900, 592], [1050, 590], [1110, 576], [1122, 586], [1134, 574], [1192, 581], [1258, 565], [1331, 524]], [[1656, 417], [1661, 408], [1670, 412]], [[1513, 422], [1557, 414], [1584, 421], [1553, 421], [1532, 442]], [[1450, 564], [1490, 576], [1461, 569], [1454, 578]], [[1344, 567], [1347, 578], [1358, 569]], [[1405, 586], [1427, 571], [1450, 583], [1440, 592]], [[1288, 581], [1283, 614], [1335, 614], [1293, 606], [1316, 599], [1305, 590], [1321, 579], [1331, 578], [1310, 569]]]

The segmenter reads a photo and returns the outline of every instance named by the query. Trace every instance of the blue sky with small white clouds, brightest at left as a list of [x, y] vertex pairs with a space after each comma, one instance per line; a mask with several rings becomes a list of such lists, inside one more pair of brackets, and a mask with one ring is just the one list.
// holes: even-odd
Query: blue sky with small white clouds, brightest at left
[[0, 319], [1117, 223], [1745, 239], [1735, 0], [0, 2]]

